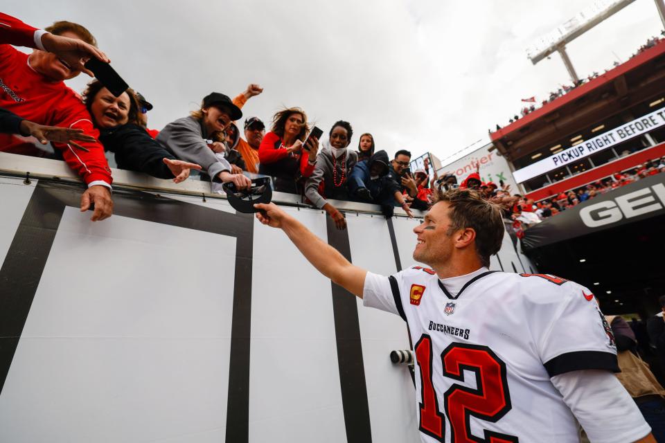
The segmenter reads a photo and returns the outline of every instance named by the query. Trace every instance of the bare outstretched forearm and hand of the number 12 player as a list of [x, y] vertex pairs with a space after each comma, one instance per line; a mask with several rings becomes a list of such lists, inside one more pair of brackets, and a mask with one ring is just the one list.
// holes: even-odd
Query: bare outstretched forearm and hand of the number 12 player
[[273, 228], [281, 228], [311, 264], [333, 282], [362, 298], [367, 271], [349, 263], [337, 249], [312, 234], [300, 221], [294, 219], [276, 204], [256, 204], [261, 210], [256, 218]]

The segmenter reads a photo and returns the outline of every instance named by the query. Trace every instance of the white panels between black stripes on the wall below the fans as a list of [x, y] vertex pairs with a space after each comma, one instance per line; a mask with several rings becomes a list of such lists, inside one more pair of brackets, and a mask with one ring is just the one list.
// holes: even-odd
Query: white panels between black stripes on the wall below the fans
[[[35, 183], [0, 177], [0, 262]], [[321, 211], [287, 211], [327, 238]], [[347, 217], [353, 262], [396, 272], [385, 219]], [[393, 218], [402, 268], [417, 224]], [[57, 226], [0, 392], [0, 442], [224, 441], [236, 237], [121, 215], [91, 223], [72, 206]], [[330, 280], [256, 220], [253, 244], [249, 441], [346, 442]], [[506, 271], [520, 264], [507, 235], [500, 257]], [[413, 383], [389, 361], [409, 347], [406, 325], [357, 306], [372, 440], [418, 442]]]

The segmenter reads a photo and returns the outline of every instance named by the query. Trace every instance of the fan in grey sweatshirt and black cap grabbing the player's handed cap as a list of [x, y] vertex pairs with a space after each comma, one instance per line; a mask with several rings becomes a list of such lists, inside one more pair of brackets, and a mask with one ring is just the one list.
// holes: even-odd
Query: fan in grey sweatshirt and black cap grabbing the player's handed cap
[[232, 182], [236, 188], [246, 189], [251, 181], [242, 174], [231, 174], [229, 162], [218, 159], [209, 147], [213, 141], [223, 141], [224, 130], [241, 117], [242, 111], [229, 96], [213, 92], [204, 97], [200, 109], [166, 125], [157, 141], [177, 158], [201, 165], [212, 181]]

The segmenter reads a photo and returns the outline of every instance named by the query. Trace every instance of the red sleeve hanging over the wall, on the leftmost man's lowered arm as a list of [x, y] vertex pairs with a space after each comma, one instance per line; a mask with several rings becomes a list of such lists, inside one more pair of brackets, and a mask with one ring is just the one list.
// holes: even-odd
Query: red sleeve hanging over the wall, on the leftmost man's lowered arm
[[[53, 120], [49, 122], [51, 125], [83, 129], [85, 134], [99, 138], [99, 131], [92, 125], [87, 109], [73, 93], [71, 95], [68, 93], [60, 104]], [[98, 141], [78, 142], [78, 144], [87, 148], [89, 152], [63, 143], [53, 143], [53, 146], [62, 151], [62, 157], [69, 168], [75, 170], [85, 183], [101, 180], [110, 185], [113, 179], [102, 144]]]

